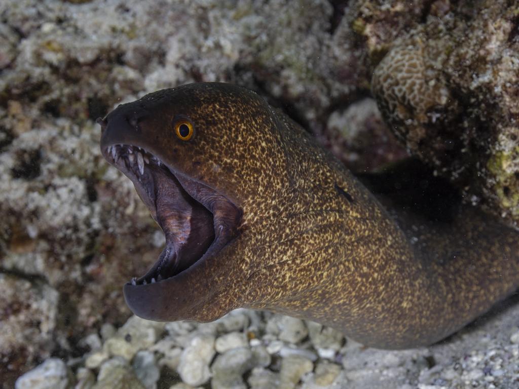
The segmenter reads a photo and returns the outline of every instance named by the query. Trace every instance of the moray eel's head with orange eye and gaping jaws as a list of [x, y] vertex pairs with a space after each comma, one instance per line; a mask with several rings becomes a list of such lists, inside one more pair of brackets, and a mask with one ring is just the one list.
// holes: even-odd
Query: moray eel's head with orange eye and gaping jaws
[[241, 306], [248, 215], [258, 186], [263, 196], [279, 187], [263, 174], [278, 167], [268, 105], [227, 84], [189, 84], [119, 105], [98, 123], [104, 158], [132, 180], [166, 237], [155, 265], [124, 286], [129, 308], [158, 321], [211, 321]]

